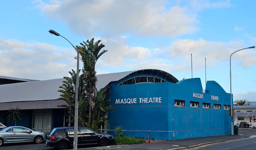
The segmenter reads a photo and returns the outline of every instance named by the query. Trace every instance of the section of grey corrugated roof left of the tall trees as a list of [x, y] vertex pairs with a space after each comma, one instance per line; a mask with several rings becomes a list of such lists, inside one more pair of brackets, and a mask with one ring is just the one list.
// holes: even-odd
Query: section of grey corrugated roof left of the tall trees
[[65, 79], [0, 85], [0, 103], [53, 100], [59, 98], [59, 86]]

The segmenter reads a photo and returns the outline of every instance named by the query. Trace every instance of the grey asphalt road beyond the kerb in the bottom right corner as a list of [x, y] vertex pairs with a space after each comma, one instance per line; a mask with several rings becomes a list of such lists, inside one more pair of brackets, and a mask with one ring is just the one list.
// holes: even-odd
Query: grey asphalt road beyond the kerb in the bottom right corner
[[256, 149], [255, 145], [256, 145], [256, 139], [249, 138], [249, 139], [236, 140], [232, 142], [210, 144], [210, 145], [187, 149], [187, 150], [239, 150], [239, 149], [255, 150]]

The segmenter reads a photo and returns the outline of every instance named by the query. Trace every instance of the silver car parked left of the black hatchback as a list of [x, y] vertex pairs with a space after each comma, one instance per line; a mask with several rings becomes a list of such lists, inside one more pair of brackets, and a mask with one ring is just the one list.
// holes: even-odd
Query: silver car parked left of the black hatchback
[[35, 142], [42, 143], [47, 138], [47, 134], [41, 131], [22, 126], [11, 126], [0, 129], [0, 146], [7, 143]]

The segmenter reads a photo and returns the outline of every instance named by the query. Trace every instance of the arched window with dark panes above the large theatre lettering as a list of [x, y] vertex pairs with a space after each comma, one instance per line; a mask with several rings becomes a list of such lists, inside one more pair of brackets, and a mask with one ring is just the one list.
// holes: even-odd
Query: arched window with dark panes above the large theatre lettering
[[157, 83], [157, 82], [166, 82], [165, 80], [154, 77], [154, 76], [137, 76], [131, 79], [125, 80], [119, 85], [131, 85], [131, 84], [139, 84], [139, 83]]

